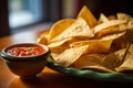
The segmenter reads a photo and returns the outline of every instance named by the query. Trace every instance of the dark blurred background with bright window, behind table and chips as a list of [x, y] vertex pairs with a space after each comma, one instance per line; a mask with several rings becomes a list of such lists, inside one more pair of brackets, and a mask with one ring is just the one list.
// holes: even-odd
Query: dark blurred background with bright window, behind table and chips
[[99, 19], [124, 12], [133, 16], [131, 0], [1, 0], [0, 37], [25, 30], [49, 29], [65, 18], [76, 18], [83, 6]]

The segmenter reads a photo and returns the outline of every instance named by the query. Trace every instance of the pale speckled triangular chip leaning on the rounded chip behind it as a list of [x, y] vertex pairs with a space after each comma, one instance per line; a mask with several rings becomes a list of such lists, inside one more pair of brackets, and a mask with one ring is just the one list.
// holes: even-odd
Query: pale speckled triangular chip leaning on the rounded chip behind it
[[82, 18], [79, 18], [71, 26], [69, 26], [60, 35], [52, 38], [51, 42], [55, 42], [69, 37], [76, 37], [76, 36], [81, 36], [81, 37], [85, 36], [89, 38], [94, 36], [93, 32], [90, 30], [90, 26]]

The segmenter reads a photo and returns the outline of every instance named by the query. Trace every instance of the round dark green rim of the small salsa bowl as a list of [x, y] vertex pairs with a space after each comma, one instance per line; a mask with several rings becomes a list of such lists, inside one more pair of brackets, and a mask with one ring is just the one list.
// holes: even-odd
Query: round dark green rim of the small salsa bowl
[[[47, 50], [47, 52], [40, 54], [40, 55], [33, 55], [33, 56], [12, 56], [12, 55], [9, 55], [7, 54], [7, 51], [11, 47], [14, 47], [14, 46], [39, 46], [39, 47], [42, 47], [44, 50]], [[4, 48], [2, 48], [1, 51], [1, 56], [3, 59], [7, 59], [7, 61], [12, 61], [12, 62], [27, 62], [27, 61], [38, 61], [38, 59], [41, 59], [43, 57], [44, 59], [44, 56], [48, 56], [50, 55], [50, 48], [44, 45], [44, 44], [37, 44], [37, 43], [18, 43], [18, 44], [11, 44], [11, 45], [8, 45], [6, 46]]]

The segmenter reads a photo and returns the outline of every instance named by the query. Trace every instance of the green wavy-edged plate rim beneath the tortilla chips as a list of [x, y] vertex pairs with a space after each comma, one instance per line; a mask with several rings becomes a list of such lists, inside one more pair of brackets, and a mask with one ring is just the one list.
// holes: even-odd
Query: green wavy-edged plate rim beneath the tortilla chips
[[74, 76], [74, 77], [81, 77], [81, 78], [89, 78], [89, 79], [95, 79], [95, 80], [105, 80], [105, 81], [133, 81], [133, 75], [125, 75], [122, 73], [99, 73], [94, 70], [80, 70], [76, 68], [66, 68], [63, 67], [57, 63], [53, 62], [52, 57], [48, 58], [48, 67], [50, 67], [53, 70], [57, 70], [59, 73]]

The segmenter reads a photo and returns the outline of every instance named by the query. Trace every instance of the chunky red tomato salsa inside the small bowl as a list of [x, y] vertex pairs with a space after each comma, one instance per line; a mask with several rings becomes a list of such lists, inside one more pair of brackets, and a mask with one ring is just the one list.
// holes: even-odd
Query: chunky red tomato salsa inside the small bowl
[[28, 47], [12, 47], [10, 48], [7, 54], [12, 56], [34, 56], [44, 53], [45, 51], [38, 46], [28, 46]]

